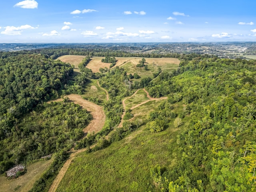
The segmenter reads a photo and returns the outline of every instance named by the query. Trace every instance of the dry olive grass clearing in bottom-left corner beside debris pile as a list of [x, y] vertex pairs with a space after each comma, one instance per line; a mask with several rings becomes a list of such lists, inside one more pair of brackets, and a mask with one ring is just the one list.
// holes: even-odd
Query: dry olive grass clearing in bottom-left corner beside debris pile
[[5, 176], [0, 176], [0, 191], [29, 191], [33, 187], [34, 182], [36, 182], [36, 180], [40, 178], [41, 174], [48, 169], [52, 161], [53, 159], [47, 161], [39, 161], [34, 164], [31, 164], [27, 167], [27, 172], [24, 175], [10, 181], [8, 181]]

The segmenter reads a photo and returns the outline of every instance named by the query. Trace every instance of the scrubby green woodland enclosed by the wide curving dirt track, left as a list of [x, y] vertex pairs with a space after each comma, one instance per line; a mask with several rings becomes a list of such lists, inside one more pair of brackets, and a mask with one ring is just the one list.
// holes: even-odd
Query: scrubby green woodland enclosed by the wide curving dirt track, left
[[[16, 122], [8, 138], [0, 141], [0, 171], [12, 164], [70, 149], [83, 136], [82, 129], [92, 115], [74, 103], [43, 104]], [[10, 163], [11, 162], [11, 163]]]

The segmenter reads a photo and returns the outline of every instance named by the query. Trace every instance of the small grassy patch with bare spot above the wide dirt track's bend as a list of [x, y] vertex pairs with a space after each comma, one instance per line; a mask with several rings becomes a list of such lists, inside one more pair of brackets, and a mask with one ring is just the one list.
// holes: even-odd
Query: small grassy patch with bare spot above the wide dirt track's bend
[[98, 86], [97, 80], [95, 79], [90, 79], [86, 82], [85, 93], [82, 96], [86, 99], [90, 99], [91, 97], [98, 98], [100, 104], [106, 102], [106, 92]]

